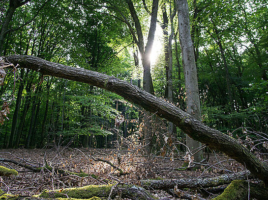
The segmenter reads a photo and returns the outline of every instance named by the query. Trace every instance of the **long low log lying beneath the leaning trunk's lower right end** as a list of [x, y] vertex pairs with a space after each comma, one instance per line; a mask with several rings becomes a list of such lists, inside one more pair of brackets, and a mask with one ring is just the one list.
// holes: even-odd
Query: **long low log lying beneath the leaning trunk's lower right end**
[[[247, 172], [248, 177], [253, 177]], [[163, 179], [154, 180], [147, 179], [141, 180], [141, 186], [149, 189], [167, 190], [173, 189], [177, 186], [179, 189], [183, 188], [208, 188], [216, 187], [219, 185], [229, 184], [236, 179], [247, 179], [245, 172], [232, 174], [232, 175], [220, 175], [212, 178], [180, 178], [180, 179]]]

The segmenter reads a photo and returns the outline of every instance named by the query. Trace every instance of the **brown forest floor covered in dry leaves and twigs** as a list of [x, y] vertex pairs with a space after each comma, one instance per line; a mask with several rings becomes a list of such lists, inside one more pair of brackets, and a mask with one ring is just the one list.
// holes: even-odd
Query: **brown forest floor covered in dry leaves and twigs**
[[[19, 172], [18, 176], [2, 177], [0, 189], [9, 190], [9, 194], [20, 195], [39, 194], [45, 189], [117, 183], [119, 180], [139, 185], [141, 179], [214, 177], [244, 170], [243, 166], [233, 159], [214, 152], [206, 153], [206, 161], [198, 170], [193, 168], [181, 170], [183, 159], [174, 158], [172, 160], [168, 157], [148, 156], [139, 150], [6, 149], [0, 150], [0, 158], [15, 160], [35, 167], [49, 165], [52, 169], [63, 169], [76, 173], [83, 171], [97, 176], [97, 178], [91, 176], [82, 178], [71, 174], [62, 175], [53, 170], [35, 173], [10, 162], [0, 162], [0, 165]], [[124, 175], [119, 175], [116, 167], [121, 169]], [[150, 192], [161, 198], [171, 198], [167, 193]], [[197, 193], [198, 191], [196, 191]]]

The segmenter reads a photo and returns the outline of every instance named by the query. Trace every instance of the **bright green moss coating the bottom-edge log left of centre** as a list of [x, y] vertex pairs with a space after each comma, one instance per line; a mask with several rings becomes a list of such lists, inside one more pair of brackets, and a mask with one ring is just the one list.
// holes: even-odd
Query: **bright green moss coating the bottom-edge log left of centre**
[[[68, 188], [64, 190], [54, 190], [42, 192], [39, 197], [42, 198], [69, 198], [90, 199], [93, 197], [107, 197], [113, 185], [87, 185], [80, 188]], [[59, 194], [62, 193], [62, 194]], [[63, 195], [66, 194], [66, 195]]]

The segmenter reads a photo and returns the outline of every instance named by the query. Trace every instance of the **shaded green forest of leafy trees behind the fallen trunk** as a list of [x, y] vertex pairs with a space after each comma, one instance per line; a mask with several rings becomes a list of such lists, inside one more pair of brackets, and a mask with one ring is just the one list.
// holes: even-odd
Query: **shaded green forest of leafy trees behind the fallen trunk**
[[[3, 22], [8, 1], [0, 3]], [[111, 9], [109, 3], [119, 11]], [[146, 3], [150, 6], [151, 2]], [[238, 140], [246, 140], [253, 149], [265, 150], [268, 143], [268, 3], [265, 0], [188, 3], [202, 121]], [[173, 2], [161, 1], [159, 7], [163, 10], [164, 6], [170, 18]], [[142, 67], [141, 62], [137, 62], [137, 47], [129, 28], [117, 18], [117, 12], [130, 18], [126, 7], [126, 3], [116, 0], [98, 4], [90, 0], [82, 3], [29, 1], [14, 13], [2, 55], [34, 55], [113, 75], [140, 86]], [[135, 9], [146, 34], [148, 8], [143, 2], [135, 1]], [[158, 24], [163, 26], [162, 13], [159, 9]], [[185, 109], [177, 26], [175, 17], [173, 101]], [[165, 30], [170, 32], [170, 25]], [[151, 75], [156, 96], [167, 98], [164, 45], [163, 42], [162, 53], [154, 61]], [[118, 95], [26, 69], [8, 73], [4, 82], [0, 87], [0, 104], [8, 104], [10, 114], [9, 120], [5, 119], [0, 126], [1, 148], [115, 147], [118, 133], [138, 141], [144, 139], [140, 131], [142, 111]], [[124, 119], [115, 123], [121, 116]], [[184, 144], [185, 136], [179, 129], [177, 139]], [[180, 148], [183, 150], [183, 145]]]

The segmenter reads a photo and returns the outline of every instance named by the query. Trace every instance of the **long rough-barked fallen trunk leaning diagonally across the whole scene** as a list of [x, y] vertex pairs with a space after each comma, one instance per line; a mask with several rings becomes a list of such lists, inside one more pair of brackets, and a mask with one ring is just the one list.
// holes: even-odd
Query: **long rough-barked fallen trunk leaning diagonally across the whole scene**
[[207, 145], [211, 149], [224, 152], [245, 165], [253, 175], [268, 184], [268, 167], [243, 145], [239, 144], [236, 139], [204, 125], [177, 106], [159, 99], [135, 85], [109, 75], [49, 62], [34, 56], [10, 55], [6, 58], [14, 65], [19, 64], [20, 67], [35, 70], [43, 75], [84, 82], [114, 92], [126, 100], [167, 119], [194, 140]]

